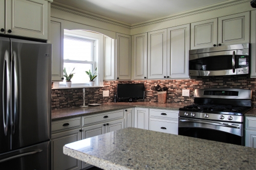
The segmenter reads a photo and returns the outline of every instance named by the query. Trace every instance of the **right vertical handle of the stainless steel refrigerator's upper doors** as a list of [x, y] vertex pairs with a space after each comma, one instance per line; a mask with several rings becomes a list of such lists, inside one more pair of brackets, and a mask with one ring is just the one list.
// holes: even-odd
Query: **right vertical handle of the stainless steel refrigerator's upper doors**
[[18, 61], [17, 61], [17, 55], [15, 51], [12, 54], [12, 61], [11, 61], [11, 89], [12, 89], [12, 95], [11, 95], [11, 126], [12, 126], [12, 134], [15, 133], [16, 124], [17, 124], [17, 112], [18, 112]]

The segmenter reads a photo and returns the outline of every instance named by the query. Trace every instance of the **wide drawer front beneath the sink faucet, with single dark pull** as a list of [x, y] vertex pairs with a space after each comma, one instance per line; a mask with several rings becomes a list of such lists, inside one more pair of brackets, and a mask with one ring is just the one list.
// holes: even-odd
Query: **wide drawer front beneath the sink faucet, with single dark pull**
[[119, 119], [123, 117], [123, 110], [117, 110], [112, 112], [99, 113], [89, 116], [82, 116], [82, 126], [88, 126], [92, 124], [98, 124], [112, 119]]

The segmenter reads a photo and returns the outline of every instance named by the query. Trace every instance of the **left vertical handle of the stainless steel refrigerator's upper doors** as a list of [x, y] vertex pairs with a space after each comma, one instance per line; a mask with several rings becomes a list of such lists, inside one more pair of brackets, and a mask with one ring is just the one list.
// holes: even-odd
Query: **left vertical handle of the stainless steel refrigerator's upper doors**
[[11, 82], [10, 82], [10, 56], [9, 52], [5, 52], [4, 57], [4, 74], [3, 74], [3, 116], [4, 116], [4, 131], [5, 135], [8, 135], [9, 130], [9, 118], [11, 108]]

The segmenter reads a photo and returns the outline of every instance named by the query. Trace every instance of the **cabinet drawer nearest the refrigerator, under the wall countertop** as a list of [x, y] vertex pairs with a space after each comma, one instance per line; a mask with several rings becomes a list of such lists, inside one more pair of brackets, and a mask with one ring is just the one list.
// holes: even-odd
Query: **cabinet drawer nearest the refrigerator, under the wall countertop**
[[57, 120], [52, 122], [52, 133], [81, 127], [81, 117]]

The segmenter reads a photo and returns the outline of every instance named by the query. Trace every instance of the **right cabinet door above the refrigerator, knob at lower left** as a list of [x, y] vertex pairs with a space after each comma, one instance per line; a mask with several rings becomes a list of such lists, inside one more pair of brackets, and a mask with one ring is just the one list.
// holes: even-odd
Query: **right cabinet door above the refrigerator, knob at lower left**
[[5, 28], [5, 34], [47, 39], [48, 2], [44, 0], [6, 1]]

